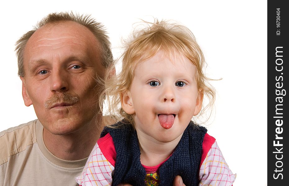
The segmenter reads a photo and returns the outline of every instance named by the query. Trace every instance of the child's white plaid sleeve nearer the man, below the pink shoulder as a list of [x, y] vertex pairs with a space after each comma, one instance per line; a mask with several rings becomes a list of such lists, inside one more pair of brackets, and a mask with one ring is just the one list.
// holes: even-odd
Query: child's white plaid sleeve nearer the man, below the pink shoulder
[[98, 144], [93, 147], [82, 173], [75, 178], [81, 186], [106, 186], [112, 184], [114, 166], [103, 155]]

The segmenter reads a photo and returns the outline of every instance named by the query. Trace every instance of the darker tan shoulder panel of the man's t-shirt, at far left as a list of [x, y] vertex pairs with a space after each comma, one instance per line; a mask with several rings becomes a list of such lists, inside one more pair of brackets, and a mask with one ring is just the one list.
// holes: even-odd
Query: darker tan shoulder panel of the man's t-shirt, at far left
[[36, 122], [37, 119], [0, 132], [0, 165], [36, 142]]

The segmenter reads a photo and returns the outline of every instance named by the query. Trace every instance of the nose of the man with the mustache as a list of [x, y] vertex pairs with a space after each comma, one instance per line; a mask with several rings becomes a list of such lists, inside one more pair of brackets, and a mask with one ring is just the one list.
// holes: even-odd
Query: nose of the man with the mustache
[[52, 70], [50, 75], [50, 90], [52, 92], [65, 92], [68, 91], [68, 89], [68, 78], [66, 77], [65, 72], [59, 69]]

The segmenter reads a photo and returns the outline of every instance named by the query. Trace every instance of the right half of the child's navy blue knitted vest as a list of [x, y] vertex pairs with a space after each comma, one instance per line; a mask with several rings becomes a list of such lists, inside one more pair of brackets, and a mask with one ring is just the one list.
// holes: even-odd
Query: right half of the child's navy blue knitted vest
[[182, 177], [186, 186], [199, 184], [198, 171], [206, 132], [205, 127], [196, 128], [192, 122], [189, 124], [172, 156], [160, 166], [160, 186], [172, 185], [177, 175]]

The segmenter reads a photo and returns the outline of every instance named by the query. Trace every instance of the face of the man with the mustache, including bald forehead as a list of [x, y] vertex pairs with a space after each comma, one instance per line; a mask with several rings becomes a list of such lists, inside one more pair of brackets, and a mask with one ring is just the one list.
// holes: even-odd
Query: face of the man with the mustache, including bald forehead
[[104, 73], [98, 48], [93, 33], [71, 21], [45, 25], [28, 40], [23, 99], [52, 134], [69, 134], [95, 122], [95, 78]]

